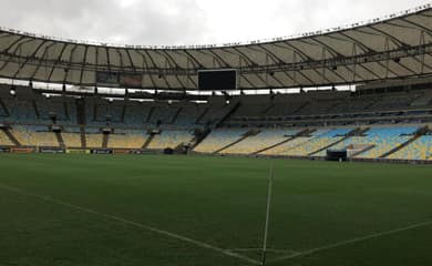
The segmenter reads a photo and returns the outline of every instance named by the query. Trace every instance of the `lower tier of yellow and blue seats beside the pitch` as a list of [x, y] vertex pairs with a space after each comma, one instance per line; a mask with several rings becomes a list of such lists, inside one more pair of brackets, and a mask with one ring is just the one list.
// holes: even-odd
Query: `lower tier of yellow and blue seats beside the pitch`
[[[66, 147], [131, 149], [145, 144], [151, 150], [176, 149], [194, 140], [192, 130], [161, 130], [152, 139], [146, 130], [119, 130], [105, 136], [99, 127], [63, 127], [61, 137]], [[59, 147], [61, 141], [49, 126], [12, 125], [9, 130], [22, 146]], [[420, 134], [420, 135], [419, 135]], [[13, 140], [13, 137], [11, 137]], [[0, 131], [0, 146], [14, 146]], [[107, 141], [104, 142], [104, 141]], [[432, 160], [432, 134], [425, 125], [340, 129], [216, 129], [196, 147], [198, 153], [326, 156], [327, 150], [347, 150], [357, 158]]]

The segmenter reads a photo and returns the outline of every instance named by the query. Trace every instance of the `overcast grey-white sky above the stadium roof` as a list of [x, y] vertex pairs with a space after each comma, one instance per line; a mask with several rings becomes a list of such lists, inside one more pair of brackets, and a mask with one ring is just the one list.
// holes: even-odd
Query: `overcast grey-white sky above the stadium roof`
[[284, 37], [373, 19], [424, 0], [0, 0], [0, 25], [117, 44]]

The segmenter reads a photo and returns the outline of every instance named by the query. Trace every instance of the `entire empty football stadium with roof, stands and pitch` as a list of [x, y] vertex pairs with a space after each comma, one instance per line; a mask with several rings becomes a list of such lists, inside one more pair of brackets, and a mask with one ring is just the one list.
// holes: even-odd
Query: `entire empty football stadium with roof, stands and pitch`
[[432, 6], [265, 41], [0, 28], [0, 266], [432, 265]]

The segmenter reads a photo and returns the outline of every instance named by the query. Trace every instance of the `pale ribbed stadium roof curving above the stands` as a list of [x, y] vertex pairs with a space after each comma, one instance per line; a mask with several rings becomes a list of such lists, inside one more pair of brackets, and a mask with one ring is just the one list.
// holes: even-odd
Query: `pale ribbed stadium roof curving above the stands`
[[0, 29], [0, 78], [197, 90], [197, 72], [236, 69], [243, 90], [368, 83], [432, 74], [431, 4], [350, 27], [249, 43], [111, 45]]

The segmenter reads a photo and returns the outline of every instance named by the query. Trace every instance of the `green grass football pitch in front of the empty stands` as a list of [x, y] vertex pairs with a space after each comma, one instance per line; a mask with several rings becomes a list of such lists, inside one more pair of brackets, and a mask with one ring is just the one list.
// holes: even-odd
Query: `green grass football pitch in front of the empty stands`
[[432, 167], [0, 155], [1, 266], [432, 265]]

